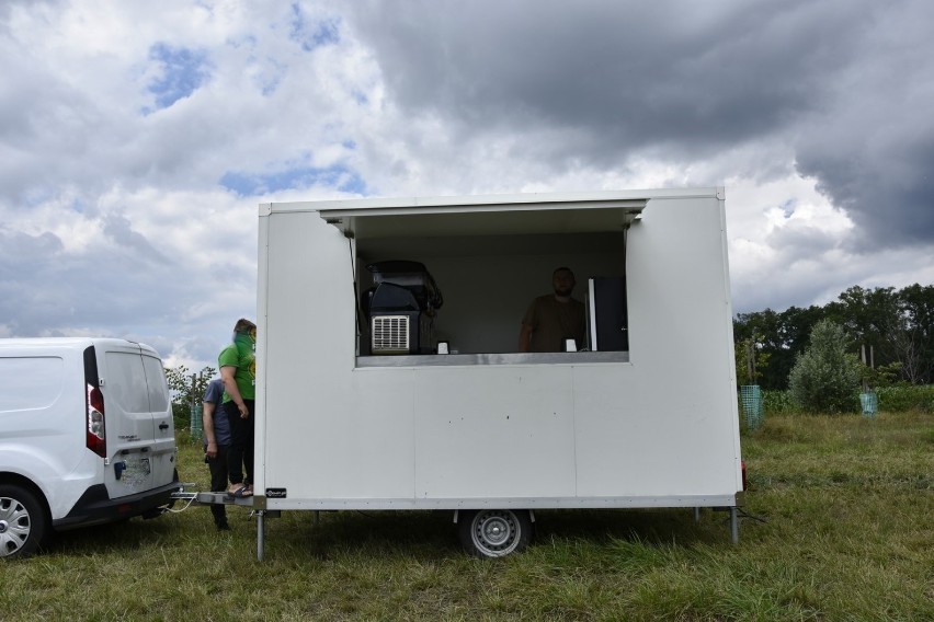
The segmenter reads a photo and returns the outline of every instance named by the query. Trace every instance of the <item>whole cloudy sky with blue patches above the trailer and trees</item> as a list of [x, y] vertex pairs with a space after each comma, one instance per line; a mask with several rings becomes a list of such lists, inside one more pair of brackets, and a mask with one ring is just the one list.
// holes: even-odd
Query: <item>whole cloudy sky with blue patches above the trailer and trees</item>
[[215, 365], [271, 200], [724, 185], [737, 312], [931, 285], [932, 24], [929, 0], [2, 0], [0, 336]]

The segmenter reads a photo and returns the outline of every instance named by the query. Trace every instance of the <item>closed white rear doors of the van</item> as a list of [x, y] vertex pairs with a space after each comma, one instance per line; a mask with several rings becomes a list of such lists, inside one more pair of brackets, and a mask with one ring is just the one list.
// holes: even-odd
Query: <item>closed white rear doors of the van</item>
[[111, 498], [171, 483], [175, 430], [162, 361], [155, 350], [121, 341], [96, 343], [104, 395], [104, 484]]

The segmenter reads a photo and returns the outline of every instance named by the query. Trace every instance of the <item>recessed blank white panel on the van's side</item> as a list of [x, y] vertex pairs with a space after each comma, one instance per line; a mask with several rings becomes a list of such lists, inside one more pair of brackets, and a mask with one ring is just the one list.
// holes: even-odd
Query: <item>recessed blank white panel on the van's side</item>
[[0, 412], [46, 408], [58, 401], [64, 381], [59, 357], [0, 358], [0, 378], [8, 390], [0, 391]]

